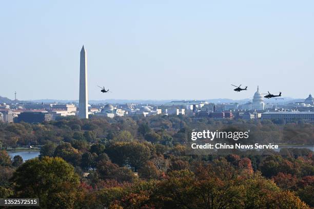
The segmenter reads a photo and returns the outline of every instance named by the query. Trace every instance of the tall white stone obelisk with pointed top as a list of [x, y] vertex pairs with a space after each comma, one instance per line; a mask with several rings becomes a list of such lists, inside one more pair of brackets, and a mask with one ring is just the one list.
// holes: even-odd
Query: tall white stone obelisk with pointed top
[[78, 101], [78, 118], [88, 118], [88, 91], [87, 91], [87, 56], [84, 45], [80, 60], [80, 98]]

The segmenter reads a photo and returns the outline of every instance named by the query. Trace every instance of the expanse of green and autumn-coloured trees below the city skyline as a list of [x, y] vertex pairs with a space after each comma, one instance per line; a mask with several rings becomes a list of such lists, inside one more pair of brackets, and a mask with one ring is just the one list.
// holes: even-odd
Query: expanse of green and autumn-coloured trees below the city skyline
[[314, 156], [186, 155], [186, 133], [250, 129], [250, 141], [312, 142], [313, 124], [188, 116], [66, 117], [0, 123], [3, 149], [41, 144], [23, 163], [0, 151], [0, 196], [40, 198], [43, 208], [309, 208]]

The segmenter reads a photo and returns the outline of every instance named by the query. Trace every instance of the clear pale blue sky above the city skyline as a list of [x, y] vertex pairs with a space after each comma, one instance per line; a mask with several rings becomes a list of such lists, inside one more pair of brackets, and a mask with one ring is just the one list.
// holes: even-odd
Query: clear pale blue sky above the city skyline
[[[0, 95], [78, 99], [84, 44], [90, 99], [239, 99], [257, 85], [305, 98], [314, 89], [313, 8], [287, 0], [2, 1]], [[235, 93], [230, 83], [249, 90]]]

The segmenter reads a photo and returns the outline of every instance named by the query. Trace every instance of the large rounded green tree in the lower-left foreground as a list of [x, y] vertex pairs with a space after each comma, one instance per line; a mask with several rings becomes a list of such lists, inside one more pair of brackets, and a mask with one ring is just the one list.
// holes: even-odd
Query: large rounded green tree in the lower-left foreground
[[11, 181], [15, 197], [39, 198], [42, 208], [73, 208], [79, 185], [73, 166], [60, 157], [28, 160]]

